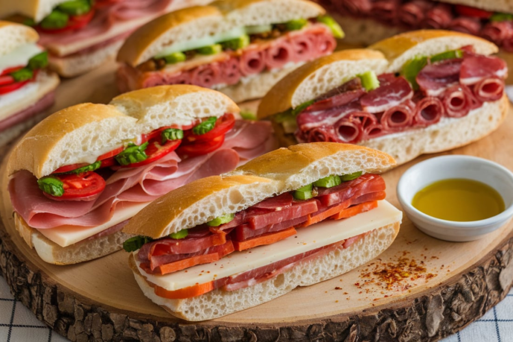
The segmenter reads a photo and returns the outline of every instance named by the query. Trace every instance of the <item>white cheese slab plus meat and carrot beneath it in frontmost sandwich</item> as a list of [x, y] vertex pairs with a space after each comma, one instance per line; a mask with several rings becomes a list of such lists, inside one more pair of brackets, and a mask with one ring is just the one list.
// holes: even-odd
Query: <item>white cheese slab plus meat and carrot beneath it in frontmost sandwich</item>
[[400, 222], [401, 217], [401, 211], [379, 200], [376, 209], [343, 220], [327, 219], [272, 245], [236, 251], [214, 263], [165, 275], [149, 274], [136, 255], [135, 263], [160, 297], [188, 298], [214, 289], [233, 291], [273, 278], [308, 258], [347, 248], [374, 229]]

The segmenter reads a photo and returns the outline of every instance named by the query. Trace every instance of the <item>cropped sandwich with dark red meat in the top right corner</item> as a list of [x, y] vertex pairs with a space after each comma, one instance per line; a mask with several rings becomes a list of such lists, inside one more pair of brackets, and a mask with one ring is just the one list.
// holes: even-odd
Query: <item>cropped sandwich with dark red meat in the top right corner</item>
[[[513, 62], [513, 5], [508, 1], [469, 0], [317, 0], [347, 33], [346, 42], [368, 46], [392, 35], [418, 29], [473, 34], [499, 46]], [[511, 83], [511, 79], [508, 79]]]

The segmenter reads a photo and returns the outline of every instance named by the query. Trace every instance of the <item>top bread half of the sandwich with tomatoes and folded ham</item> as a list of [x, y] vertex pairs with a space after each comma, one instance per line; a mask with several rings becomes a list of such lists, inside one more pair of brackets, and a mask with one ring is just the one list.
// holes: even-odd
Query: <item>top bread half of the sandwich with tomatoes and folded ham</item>
[[8, 174], [28, 170], [41, 178], [61, 166], [94, 163], [127, 139], [166, 123], [187, 125], [225, 113], [239, 113], [229, 97], [187, 85], [129, 92], [115, 97], [109, 105], [75, 105], [47, 117], [17, 143], [9, 158]]

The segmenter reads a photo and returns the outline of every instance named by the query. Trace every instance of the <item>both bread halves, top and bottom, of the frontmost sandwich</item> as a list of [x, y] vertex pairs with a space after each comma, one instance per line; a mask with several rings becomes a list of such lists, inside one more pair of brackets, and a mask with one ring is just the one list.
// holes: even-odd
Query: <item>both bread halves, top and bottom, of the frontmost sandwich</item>
[[[281, 148], [230, 173], [203, 178], [164, 195], [135, 215], [123, 231], [164, 237], [214, 217], [239, 212], [328, 175], [376, 173], [394, 164], [386, 153], [349, 144], [311, 143]], [[393, 242], [399, 232], [400, 217], [398, 212], [393, 223], [370, 231], [348, 248], [337, 247], [326, 255], [300, 261], [277, 277], [234, 291], [216, 289], [186, 299], [168, 299], [155, 294], [149, 275], [137, 266], [137, 252], [130, 254], [129, 265], [144, 294], [172, 315], [186, 320], [212, 319], [265, 303], [298, 286], [319, 283], [366, 263]], [[159, 277], [152, 275], [155, 276]]]

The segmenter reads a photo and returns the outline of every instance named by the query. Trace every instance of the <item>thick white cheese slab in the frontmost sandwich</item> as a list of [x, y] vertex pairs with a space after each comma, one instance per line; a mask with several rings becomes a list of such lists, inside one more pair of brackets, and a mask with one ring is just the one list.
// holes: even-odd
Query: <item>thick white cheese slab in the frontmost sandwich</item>
[[[166, 275], [150, 275], [137, 267], [148, 281], [169, 291], [195, 284], [208, 283], [237, 273], [266, 266], [294, 255], [327, 246], [352, 236], [400, 222], [403, 213], [386, 200], [379, 201], [378, 208], [342, 220], [325, 220], [298, 229], [298, 234], [267, 246], [259, 246], [242, 252], [233, 252], [216, 263], [198, 265]], [[134, 254], [137, 252], [134, 252]], [[137, 258], [135, 258], [137, 259]]]

